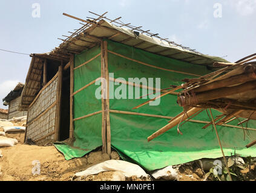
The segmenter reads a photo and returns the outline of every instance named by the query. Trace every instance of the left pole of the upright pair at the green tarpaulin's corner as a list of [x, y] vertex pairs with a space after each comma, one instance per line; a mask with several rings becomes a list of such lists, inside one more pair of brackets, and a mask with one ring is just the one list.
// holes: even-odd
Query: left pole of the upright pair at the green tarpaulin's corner
[[101, 49], [101, 106], [102, 106], [102, 153], [107, 153], [107, 136], [106, 136], [106, 130], [107, 130], [107, 117], [106, 117], [106, 99], [105, 99], [105, 60], [103, 58], [104, 56], [104, 45], [103, 42], [100, 45]]

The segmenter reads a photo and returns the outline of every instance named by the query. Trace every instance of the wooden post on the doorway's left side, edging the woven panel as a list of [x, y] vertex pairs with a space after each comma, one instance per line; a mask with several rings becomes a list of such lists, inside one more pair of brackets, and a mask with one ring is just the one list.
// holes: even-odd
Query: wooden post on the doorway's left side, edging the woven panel
[[62, 90], [62, 65], [59, 66], [57, 76], [57, 97], [56, 97], [56, 122], [55, 122], [55, 140], [59, 140], [59, 128], [61, 126], [61, 90]]

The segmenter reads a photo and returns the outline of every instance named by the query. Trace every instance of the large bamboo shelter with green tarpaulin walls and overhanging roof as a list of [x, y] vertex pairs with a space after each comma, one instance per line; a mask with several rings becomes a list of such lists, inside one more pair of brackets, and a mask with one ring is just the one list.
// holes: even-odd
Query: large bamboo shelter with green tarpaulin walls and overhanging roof
[[[220, 156], [214, 134], [201, 129], [209, 124], [205, 113], [184, 124], [182, 138], [171, 132], [148, 143], [146, 137], [182, 111], [176, 103], [181, 80], [202, 77], [216, 71], [214, 62], [228, 61], [123, 23], [120, 17], [108, 19], [107, 12], [92, 14], [96, 18], [64, 13], [82, 27], [63, 35], [63, 43], [51, 52], [31, 54], [19, 105], [28, 110], [26, 139], [73, 139], [71, 145], [54, 144], [66, 159], [82, 157], [97, 147], [111, 155], [114, 148], [123, 159], [129, 157], [148, 170]], [[139, 97], [141, 93], [146, 96]], [[156, 93], [164, 95], [159, 104], [154, 100], [150, 103], [154, 106], [133, 108]], [[242, 128], [221, 127], [228, 128], [226, 138], [239, 132], [234, 127]]]

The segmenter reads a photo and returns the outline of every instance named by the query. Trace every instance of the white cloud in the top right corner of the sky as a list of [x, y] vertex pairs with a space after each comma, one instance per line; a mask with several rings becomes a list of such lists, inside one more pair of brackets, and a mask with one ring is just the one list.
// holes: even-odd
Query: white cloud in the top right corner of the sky
[[256, 0], [231, 0], [229, 3], [241, 16], [249, 16], [256, 11]]

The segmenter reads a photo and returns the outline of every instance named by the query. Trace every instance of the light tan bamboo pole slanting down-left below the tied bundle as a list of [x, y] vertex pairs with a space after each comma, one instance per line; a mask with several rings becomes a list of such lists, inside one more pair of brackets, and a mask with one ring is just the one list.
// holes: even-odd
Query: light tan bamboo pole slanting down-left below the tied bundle
[[182, 121], [182, 119], [185, 120], [185, 119], [189, 118], [190, 116], [194, 115], [195, 113], [199, 112], [200, 110], [201, 110], [200, 108], [194, 107], [191, 110], [189, 110], [188, 112], [184, 112], [185, 115], [183, 113], [183, 115], [180, 115], [176, 119], [172, 119], [171, 122], [169, 122], [169, 124], [165, 125], [165, 127], [162, 127], [162, 128], [160, 128], [160, 130], [151, 134], [151, 136], [148, 137], [148, 142], [151, 141], [152, 139], [156, 138], [160, 134], [163, 134], [166, 131], [170, 130], [172, 127], [175, 127], [176, 125], [178, 125], [180, 123], [180, 121]]

